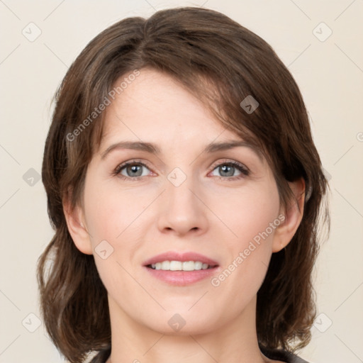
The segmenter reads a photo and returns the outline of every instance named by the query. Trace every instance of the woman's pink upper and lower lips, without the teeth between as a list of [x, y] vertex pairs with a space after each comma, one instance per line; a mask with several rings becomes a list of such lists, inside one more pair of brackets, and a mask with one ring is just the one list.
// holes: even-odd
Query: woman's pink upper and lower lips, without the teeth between
[[[194, 271], [165, 271], [162, 269], [151, 269], [147, 267], [150, 264], [155, 264], [162, 261], [199, 261], [203, 264], [209, 264], [209, 269], [199, 269]], [[156, 279], [166, 282], [174, 286], [186, 286], [194, 284], [203, 279], [211, 278], [213, 274], [219, 271], [219, 265], [213, 259], [201, 255], [196, 252], [164, 252], [147, 259], [143, 263], [143, 268]]]

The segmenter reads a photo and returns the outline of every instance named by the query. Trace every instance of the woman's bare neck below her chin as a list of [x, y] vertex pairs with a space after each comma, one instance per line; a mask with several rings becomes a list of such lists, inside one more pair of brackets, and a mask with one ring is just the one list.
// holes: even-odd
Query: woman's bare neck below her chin
[[256, 298], [238, 318], [208, 333], [164, 334], [132, 320], [108, 296], [111, 357], [107, 363], [265, 363], [255, 325]]

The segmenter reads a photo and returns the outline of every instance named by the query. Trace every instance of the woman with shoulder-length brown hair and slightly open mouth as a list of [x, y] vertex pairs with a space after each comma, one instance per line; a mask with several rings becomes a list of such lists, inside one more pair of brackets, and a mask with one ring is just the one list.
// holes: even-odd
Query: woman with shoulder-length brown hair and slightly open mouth
[[57, 91], [42, 177], [41, 308], [70, 362], [305, 362], [327, 181], [250, 30], [199, 8], [104, 30]]

